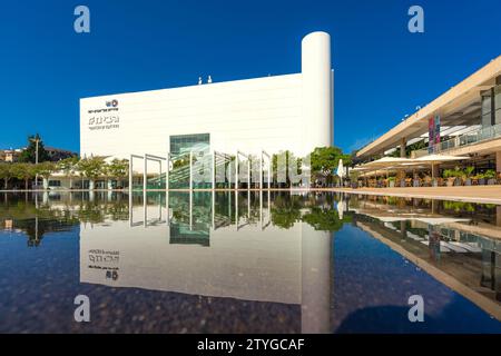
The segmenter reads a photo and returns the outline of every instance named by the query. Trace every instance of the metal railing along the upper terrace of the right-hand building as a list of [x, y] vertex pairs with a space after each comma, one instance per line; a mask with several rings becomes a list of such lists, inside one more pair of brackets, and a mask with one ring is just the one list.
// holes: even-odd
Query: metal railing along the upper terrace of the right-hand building
[[[466, 132], [464, 135], [442, 141], [433, 147], [433, 154], [442, 154], [452, 149], [475, 145], [493, 138], [501, 137], [501, 123], [481, 128], [479, 130]], [[415, 150], [412, 152], [413, 158], [419, 158], [429, 155], [428, 148]]]

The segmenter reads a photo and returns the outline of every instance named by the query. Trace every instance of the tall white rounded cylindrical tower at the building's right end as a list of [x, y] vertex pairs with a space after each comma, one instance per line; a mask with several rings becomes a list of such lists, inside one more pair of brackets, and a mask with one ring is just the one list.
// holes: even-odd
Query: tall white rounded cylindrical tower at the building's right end
[[331, 36], [307, 34], [302, 42], [304, 149], [333, 144], [334, 103], [331, 70]]

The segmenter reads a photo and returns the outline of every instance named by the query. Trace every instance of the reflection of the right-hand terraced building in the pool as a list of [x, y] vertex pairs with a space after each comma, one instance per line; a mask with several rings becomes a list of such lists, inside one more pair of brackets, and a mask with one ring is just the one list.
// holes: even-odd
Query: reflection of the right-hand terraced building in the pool
[[[501, 209], [459, 201], [351, 198], [355, 224], [500, 318]], [[439, 268], [434, 273], [432, 269]], [[444, 273], [441, 275], [440, 273]], [[445, 280], [453, 277], [453, 280]], [[492, 300], [492, 301], [491, 301]]]

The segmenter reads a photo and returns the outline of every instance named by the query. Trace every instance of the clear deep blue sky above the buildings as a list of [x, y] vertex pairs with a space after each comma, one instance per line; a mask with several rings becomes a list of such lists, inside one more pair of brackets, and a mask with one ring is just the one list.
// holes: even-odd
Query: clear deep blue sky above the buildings
[[[86, 4], [91, 32], [73, 31]], [[407, 31], [424, 9], [425, 32]], [[335, 145], [358, 148], [501, 55], [501, 1], [9, 1], [0, 7], [0, 148], [40, 132], [79, 150], [79, 98], [301, 71], [332, 36]]]

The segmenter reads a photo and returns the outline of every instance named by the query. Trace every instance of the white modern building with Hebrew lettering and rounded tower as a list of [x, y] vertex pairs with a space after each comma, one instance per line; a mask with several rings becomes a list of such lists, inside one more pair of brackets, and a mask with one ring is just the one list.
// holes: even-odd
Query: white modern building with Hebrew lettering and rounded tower
[[205, 148], [305, 156], [333, 144], [331, 37], [302, 41], [302, 72], [80, 100], [80, 155], [166, 157]]

